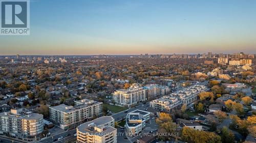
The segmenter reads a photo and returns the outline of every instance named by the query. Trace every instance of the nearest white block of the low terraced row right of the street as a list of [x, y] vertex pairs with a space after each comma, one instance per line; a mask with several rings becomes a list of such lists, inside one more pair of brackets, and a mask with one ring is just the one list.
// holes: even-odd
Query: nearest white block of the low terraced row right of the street
[[150, 107], [165, 112], [170, 112], [172, 109], [177, 109], [181, 106], [182, 101], [179, 99], [179, 97], [172, 96], [163, 96], [150, 102]]

